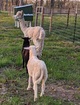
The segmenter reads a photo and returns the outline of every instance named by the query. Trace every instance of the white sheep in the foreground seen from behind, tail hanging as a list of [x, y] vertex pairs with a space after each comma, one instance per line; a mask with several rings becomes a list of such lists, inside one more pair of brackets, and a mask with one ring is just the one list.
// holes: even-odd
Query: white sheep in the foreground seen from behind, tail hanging
[[[25, 48], [27, 49], [27, 48]], [[48, 78], [47, 68], [44, 61], [39, 60], [36, 54], [35, 46], [29, 47], [29, 61], [27, 64], [28, 74], [29, 74], [29, 81], [27, 90], [31, 88], [31, 81], [33, 82], [33, 90], [34, 90], [34, 101], [38, 98], [38, 87], [37, 85], [41, 83], [41, 94], [43, 96], [45, 90], [45, 82]]]

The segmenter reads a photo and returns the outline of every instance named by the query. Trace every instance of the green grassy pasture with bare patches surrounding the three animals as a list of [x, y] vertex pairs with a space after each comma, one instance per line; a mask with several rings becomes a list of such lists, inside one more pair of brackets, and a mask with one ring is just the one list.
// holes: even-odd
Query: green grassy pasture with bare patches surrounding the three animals
[[[65, 17], [62, 20], [65, 21]], [[58, 19], [57, 24], [60, 22]], [[48, 28], [47, 19], [44, 27]], [[49, 77], [45, 96], [34, 102], [33, 90], [27, 91], [28, 75], [22, 68], [23, 33], [14, 27], [11, 16], [5, 12], [0, 13], [1, 105], [80, 105], [80, 42], [73, 43], [73, 37], [68, 32], [73, 36], [71, 28], [62, 31], [53, 29], [50, 35], [46, 30], [41, 59], [47, 65]], [[79, 32], [77, 35], [79, 37]]]

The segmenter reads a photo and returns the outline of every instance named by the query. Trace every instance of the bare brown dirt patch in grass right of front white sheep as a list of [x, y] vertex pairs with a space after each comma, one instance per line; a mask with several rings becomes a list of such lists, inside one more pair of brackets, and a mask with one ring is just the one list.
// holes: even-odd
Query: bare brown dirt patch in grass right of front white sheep
[[50, 83], [46, 86], [46, 95], [80, 105], [80, 88], [74, 86]]

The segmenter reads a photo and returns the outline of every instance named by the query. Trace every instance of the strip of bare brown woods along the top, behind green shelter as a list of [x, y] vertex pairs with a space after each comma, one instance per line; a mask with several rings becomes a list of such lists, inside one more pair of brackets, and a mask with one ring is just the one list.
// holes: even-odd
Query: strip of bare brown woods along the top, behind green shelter
[[[46, 1], [46, 2], [45, 2]], [[76, 1], [79, 2], [79, 1]], [[34, 4], [34, 5], [44, 5], [45, 7], [50, 7], [54, 5], [54, 8], [74, 8], [75, 1], [73, 0], [0, 0], [0, 10], [7, 11], [8, 8], [14, 5], [24, 5], [24, 4]], [[78, 3], [79, 4], [79, 3]]]

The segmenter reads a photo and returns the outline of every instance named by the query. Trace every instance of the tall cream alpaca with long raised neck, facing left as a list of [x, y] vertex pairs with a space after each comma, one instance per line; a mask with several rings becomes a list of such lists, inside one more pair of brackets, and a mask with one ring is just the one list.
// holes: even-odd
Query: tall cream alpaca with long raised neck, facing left
[[33, 43], [36, 46], [37, 56], [41, 57], [45, 38], [44, 29], [40, 26], [27, 28], [23, 17], [23, 11], [18, 11], [15, 15], [15, 19], [19, 20], [24, 37], [29, 37], [33, 40]]

